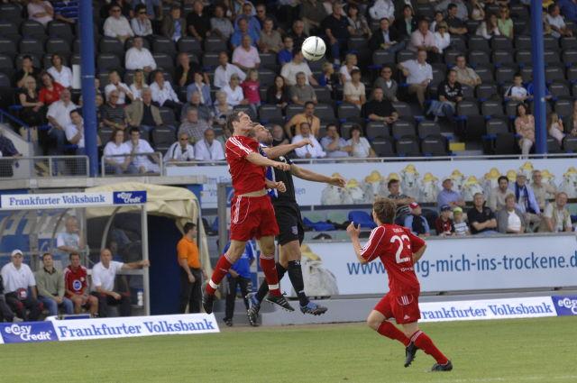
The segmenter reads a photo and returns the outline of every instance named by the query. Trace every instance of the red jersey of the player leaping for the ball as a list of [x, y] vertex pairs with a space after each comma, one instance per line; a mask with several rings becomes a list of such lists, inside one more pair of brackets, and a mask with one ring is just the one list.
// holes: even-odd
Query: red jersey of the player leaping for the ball
[[233, 136], [226, 141], [225, 153], [228, 171], [233, 178], [234, 195], [262, 190], [265, 188], [266, 168], [246, 160], [251, 153], [259, 153], [259, 142], [250, 137]]

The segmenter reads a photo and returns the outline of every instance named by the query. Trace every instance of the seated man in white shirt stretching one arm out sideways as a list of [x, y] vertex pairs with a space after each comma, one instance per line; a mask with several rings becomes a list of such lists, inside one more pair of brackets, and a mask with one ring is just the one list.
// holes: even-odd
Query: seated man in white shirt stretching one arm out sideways
[[92, 285], [98, 298], [98, 316], [105, 318], [109, 315], [108, 305], [120, 305], [120, 315], [130, 316], [130, 296], [116, 292], [114, 278], [119, 271], [127, 269], [142, 269], [150, 266], [148, 260], [123, 263], [112, 260], [112, 252], [108, 249], [100, 251], [100, 262], [92, 268]]

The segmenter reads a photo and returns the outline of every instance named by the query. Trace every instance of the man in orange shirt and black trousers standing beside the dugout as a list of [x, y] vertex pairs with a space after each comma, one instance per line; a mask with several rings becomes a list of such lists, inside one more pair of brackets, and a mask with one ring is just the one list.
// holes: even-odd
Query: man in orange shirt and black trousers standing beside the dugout
[[184, 236], [177, 244], [177, 254], [180, 266], [180, 295], [179, 312], [200, 313], [202, 300], [202, 278], [206, 278], [206, 272], [200, 263], [197, 238], [197, 225], [185, 223]]

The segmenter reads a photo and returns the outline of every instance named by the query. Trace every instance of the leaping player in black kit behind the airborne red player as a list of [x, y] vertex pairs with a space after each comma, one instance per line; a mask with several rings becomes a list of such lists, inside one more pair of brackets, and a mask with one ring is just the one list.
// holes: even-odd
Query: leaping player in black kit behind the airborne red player
[[[270, 199], [274, 206], [274, 212], [279, 223], [279, 245], [280, 257], [277, 263], [277, 272], [279, 280], [286, 272], [289, 272], [290, 283], [295, 288], [300, 304], [300, 311], [303, 314], [322, 315], [326, 307], [316, 305], [311, 302], [305, 294], [305, 284], [303, 281], [302, 270], [300, 269], [300, 245], [303, 242], [305, 233], [303, 230], [302, 217], [300, 208], [295, 196], [295, 185], [292, 176], [306, 179], [314, 182], [325, 182], [336, 187], [344, 187], [345, 181], [341, 177], [326, 177], [313, 171], [303, 169], [293, 164], [291, 160], [284, 157], [289, 151], [295, 149], [295, 145], [279, 145], [273, 148], [268, 147], [272, 142], [272, 135], [262, 125], [255, 127], [256, 139], [261, 142], [261, 154], [272, 160], [277, 160], [290, 165], [289, 171], [267, 169], [267, 178], [273, 181], [281, 181], [287, 187], [285, 193], [277, 193], [276, 190], [270, 191]], [[249, 300], [249, 321], [256, 325], [262, 299], [267, 295], [268, 285], [263, 282], [257, 293], [251, 293], [247, 296]]]

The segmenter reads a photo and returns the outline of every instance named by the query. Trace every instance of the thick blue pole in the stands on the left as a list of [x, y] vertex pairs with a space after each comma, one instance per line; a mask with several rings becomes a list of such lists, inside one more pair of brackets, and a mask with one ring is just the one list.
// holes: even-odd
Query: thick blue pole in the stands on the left
[[98, 149], [96, 147], [96, 89], [94, 83], [95, 59], [92, 0], [80, 0], [79, 3], [78, 26], [80, 27], [80, 76], [84, 139], [90, 177], [96, 177], [98, 171]]

